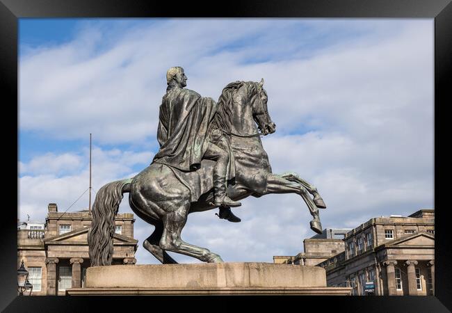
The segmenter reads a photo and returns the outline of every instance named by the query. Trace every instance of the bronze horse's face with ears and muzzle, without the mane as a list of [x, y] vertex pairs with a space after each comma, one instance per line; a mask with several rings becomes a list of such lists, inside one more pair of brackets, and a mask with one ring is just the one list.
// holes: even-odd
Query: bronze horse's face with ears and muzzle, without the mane
[[250, 102], [252, 106], [252, 116], [255, 119], [255, 122], [257, 122], [259, 131], [261, 131], [262, 135], [273, 134], [276, 131], [276, 125], [268, 114], [268, 96], [264, 89], [264, 79], [261, 79], [259, 83], [253, 82], [253, 84], [255, 93], [253, 93]]

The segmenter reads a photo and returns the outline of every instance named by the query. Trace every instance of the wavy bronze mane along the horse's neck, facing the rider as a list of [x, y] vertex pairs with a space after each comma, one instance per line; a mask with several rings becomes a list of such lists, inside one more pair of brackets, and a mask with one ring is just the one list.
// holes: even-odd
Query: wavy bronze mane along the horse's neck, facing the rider
[[231, 132], [231, 116], [232, 110], [234, 109], [234, 100], [232, 97], [234, 96], [234, 93], [244, 85], [248, 86], [248, 97], [257, 91], [257, 83], [254, 81], [234, 81], [228, 83], [227, 86], [223, 88], [217, 102], [216, 116], [211, 124], [212, 128], [220, 129], [227, 134]]

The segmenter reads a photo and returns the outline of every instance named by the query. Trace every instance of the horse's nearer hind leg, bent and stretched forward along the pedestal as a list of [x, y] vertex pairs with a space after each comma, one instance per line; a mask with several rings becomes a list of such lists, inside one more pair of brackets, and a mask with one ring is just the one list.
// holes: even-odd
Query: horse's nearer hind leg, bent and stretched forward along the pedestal
[[181, 231], [187, 221], [189, 208], [190, 203], [187, 203], [179, 207], [179, 209], [168, 211], [163, 216], [163, 234], [160, 240], [160, 247], [163, 250], [195, 257], [202, 262], [223, 262], [219, 255], [210, 252], [206, 248], [186, 243], [181, 239]]

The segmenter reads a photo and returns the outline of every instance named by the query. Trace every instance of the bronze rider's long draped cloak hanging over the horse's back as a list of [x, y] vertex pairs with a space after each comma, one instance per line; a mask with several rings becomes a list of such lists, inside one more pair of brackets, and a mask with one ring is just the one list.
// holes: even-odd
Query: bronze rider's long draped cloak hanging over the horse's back
[[[167, 91], [160, 106], [157, 129], [160, 150], [152, 163], [169, 166], [179, 181], [190, 189], [192, 201], [208, 191], [207, 185], [211, 182], [209, 176], [212, 174], [207, 174], [211, 172], [211, 166], [199, 169], [211, 141], [209, 125], [215, 113], [216, 102], [213, 99], [176, 86]], [[229, 180], [235, 176], [234, 155], [229, 144], [225, 153], [229, 154], [226, 177]]]

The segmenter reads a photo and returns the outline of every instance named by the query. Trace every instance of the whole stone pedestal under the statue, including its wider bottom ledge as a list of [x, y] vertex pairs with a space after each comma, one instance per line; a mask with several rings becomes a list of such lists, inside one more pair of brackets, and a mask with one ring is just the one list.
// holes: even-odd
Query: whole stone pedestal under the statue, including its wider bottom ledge
[[317, 266], [273, 263], [113, 265], [86, 270], [86, 288], [69, 295], [309, 294], [349, 295], [351, 288], [326, 287]]

